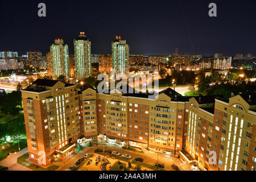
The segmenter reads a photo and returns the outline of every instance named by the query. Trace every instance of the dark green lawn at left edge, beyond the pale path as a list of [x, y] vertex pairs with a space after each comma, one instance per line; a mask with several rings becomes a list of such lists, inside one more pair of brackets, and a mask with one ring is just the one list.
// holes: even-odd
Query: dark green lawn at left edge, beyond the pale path
[[19, 147], [20, 150], [22, 150], [23, 148], [27, 147], [27, 139], [20, 139], [19, 140], [19, 145], [18, 145], [18, 141], [13, 142], [13, 144], [10, 144], [11, 146], [9, 148], [6, 148], [5, 150], [1, 150], [0, 151], [0, 160], [3, 160], [5, 158], [7, 158], [7, 154], [9, 154], [10, 152], [18, 152], [19, 151]]

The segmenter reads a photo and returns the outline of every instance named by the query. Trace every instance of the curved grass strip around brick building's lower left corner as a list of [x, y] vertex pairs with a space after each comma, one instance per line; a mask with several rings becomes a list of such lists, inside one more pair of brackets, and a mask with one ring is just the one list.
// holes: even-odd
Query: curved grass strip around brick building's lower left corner
[[48, 168], [43, 168], [43, 167], [37, 166], [34, 163], [28, 162], [26, 159], [28, 159], [28, 153], [20, 156], [18, 158], [17, 162], [19, 164], [22, 164], [23, 166], [26, 166], [27, 168], [32, 169], [33, 171], [55, 171], [57, 168], [59, 168], [59, 166], [57, 166], [57, 165], [52, 165]]

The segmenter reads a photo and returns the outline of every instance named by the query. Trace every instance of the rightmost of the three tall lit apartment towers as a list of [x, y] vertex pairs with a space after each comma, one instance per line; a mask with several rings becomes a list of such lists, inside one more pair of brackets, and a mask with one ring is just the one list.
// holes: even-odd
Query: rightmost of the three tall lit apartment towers
[[121, 36], [116, 36], [112, 42], [112, 68], [121, 75], [129, 73], [129, 46]]

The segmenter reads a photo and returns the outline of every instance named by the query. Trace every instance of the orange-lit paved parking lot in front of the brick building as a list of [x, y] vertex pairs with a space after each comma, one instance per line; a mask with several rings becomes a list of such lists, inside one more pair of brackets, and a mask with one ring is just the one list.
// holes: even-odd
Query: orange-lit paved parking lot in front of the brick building
[[[187, 165], [181, 163], [179, 161], [179, 159], [176, 158], [167, 158], [166, 156], [163, 155], [157, 155], [157, 154], [151, 154], [149, 152], [135, 152], [135, 151], [131, 151], [131, 150], [125, 150], [123, 149], [121, 146], [115, 146], [113, 144], [106, 144], [106, 146], [102, 147], [102, 146], [95, 146], [95, 147], [86, 147], [84, 148], [84, 150], [82, 150], [80, 152], [80, 154], [76, 154], [75, 156], [73, 156], [73, 158], [71, 159], [71, 161], [69, 161], [67, 164], [63, 165], [63, 168], [61, 170], [68, 170], [70, 166], [72, 166], [73, 164], [76, 163], [77, 160], [81, 159], [86, 153], [90, 153], [91, 155], [93, 155], [92, 157], [90, 156], [90, 158], [85, 159], [86, 162], [88, 162], [89, 159], [92, 159], [92, 163], [91, 164], [86, 164], [86, 162], [82, 162], [79, 167], [77, 167], [76, 170], [78, 171], [101, 171], [101, 164], [102, 161], [100, 163], [96, 164], [96, 156], [99, 155], [100, 158], [102, 159], [104, 157], [104, 155], [109, 155], [108, 153], [104, 153], [104, 152], [100, 152], [100, 153], [94, 153], [94, 150], [96, 149], [101, 149], [101, 150], [112, 150], [112, 151], [117, 151], [121, 154], [121, 156], [116, 156], [116, 159], [111, 159], [111, 158], [106, 158], [109, 160], [110, 164], [106, 165], [106, 170], [108, 171], [111, 167], [113, 167], [113, 165], [115, 163], [118, 162], [118, 160], [126, 166], [126, 168], [128, 167], [128, 160], [126, 158], [122, 157], [122, 154], [128, 154], [131, 156], [130, 162], [131, 162], [131, 166], [132, 168], [130, 168], [130, 170], [134, 170], [135, 168], [135, 163], [134, 163], [134, 159], [135, 158], [143, 158], [143, 163], [141, 163], [141, 170], [146, 169], [147, 171], [152, 171], [152, 169], [154, 169], [153, 167], [155, 166], [155, 163], [159, 162], [159, 163], [163, 163], [164, 164], [164, 170], [167, 171], [175, 171], [175, 169], [172, 166], [172, 164], [175, 164], [177, 167], [179, 167], [179, 169], [181, 171], [184, 170], [189, 170]], [[69, 166], [68, 166], [69, 164]], [[150, 168], [148, 168], [148, 166], [150, 166]]]

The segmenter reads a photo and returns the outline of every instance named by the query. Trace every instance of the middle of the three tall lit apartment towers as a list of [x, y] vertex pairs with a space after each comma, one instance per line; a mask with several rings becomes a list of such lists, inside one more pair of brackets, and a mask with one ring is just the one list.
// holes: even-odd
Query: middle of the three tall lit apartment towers
[[82, 80], [91, 75], [91, 42], [84, 32], [80, 32], [79, 38], [74, 40], [76, 78]]

